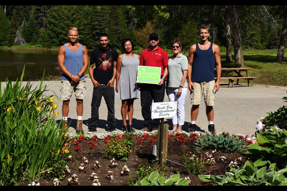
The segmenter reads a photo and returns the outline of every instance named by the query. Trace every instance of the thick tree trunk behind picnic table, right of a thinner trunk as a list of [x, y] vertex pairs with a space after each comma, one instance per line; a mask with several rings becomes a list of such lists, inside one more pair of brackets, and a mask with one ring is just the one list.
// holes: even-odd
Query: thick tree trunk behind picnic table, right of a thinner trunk
[[242, 52], [241, 38], [240, 38], [240, 21], [237, 14], [238, 6], [228, 5], [229, 9], [229, 20], [232, 23], [232, 38], [234, 47], [235, 67], [244, 67], [244, 58]]

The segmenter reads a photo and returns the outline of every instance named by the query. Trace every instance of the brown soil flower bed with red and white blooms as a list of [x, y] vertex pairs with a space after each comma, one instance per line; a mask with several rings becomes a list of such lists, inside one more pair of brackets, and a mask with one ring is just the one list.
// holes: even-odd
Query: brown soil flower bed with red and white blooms
[[[193, 147], [195, 141], [201, 136], [205, 136], [205, 134], [198, 133], [169, 132], [168, 161], [165, 168], [152, 162], [156, 159], [155, 156], [152, 155], [152, 150], [153, 144], [157, 142], [157, 132], [148, 133], [138, 131], [132, 134], [134, 139], [133, 146], [131, 147], [132, 152], [127, 160], [108, 159], [105, 157], [103, 150], [98, 147], [109, 144], [111, 140], [123, 140], [125, 137], [131, 137], [130, 134], [93, 134], [86, 137], [83, 135], [73, 136], [70, 134], [69, 136], [71, 140], [73, 140], [72, 142], [74, 142], [69, 149], [73, 151], [73, 154], [71, 155], [72, 158], [68, 159], [69, 173], [66, 173], [67, 176], [59, 180], [57, 184], [60, 185], [134, 185], [134, 181], [139, 178], [138, 174], [147, 175], [153, 170], [160, 170], [161, 175], [165, 175], [166, 178], [172, 174], [180, 173], [180, 178], [187, 178], [191, 185], [209, 184], [203, 183], [198, 178], [196, 169], [192, 173], [189, 173], [189, 171], [182, 166], [186, 164], [186, 162], [184, 163], [183, 161], [183, 156], [186, 156], [186, 158], [193, 157], [195, 161], [197, 160], [196, 164], [194, 164], [197, 166], [191, 168], [202, 167], [201, 172], [213, 175], [225, 174], [227, 171], [226, 166], [241, 166], [246, 161], [246, 159], [241, 157], [240, 153], [237, 152], [230, 153], [225, 150], [215, 151], [212, 149], [202, 150], [200, 152], [196, 151]], [[214, 134], [212, 136], [219, 135]], [[234, 137], [238, 139], [245, 139], [246, 137], [245, 144], [248, 144], [248, 136], [234, 135]], [[77, 177], [75, 177], [74, 174], [77, 175]], [[92, 176], [96, 178], [91, 178]], [[74, 182], [71, 183], [73, 180]], [[40, 184], [54, 185], [52, 180], [45, 179], [40, 181]]]

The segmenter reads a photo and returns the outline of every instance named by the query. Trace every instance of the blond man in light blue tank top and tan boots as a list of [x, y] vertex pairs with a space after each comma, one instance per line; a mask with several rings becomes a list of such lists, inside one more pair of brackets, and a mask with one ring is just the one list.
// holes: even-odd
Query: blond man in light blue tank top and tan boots
[[58, 64], [62, 71], [60, 97], [63, 101], [63, 129], [68, 127], [68, 113], [70, 98], [75, 92], [77, 101], [77, 127], [76, 133], [83, 131], [83, 99], [86, 99], [86, 85], [84, 73], [88, 68], [88, 51], [85, 46], [78, 43], [78, 29], [71, 27], [68, 33], [69, 42], [59, 49]]

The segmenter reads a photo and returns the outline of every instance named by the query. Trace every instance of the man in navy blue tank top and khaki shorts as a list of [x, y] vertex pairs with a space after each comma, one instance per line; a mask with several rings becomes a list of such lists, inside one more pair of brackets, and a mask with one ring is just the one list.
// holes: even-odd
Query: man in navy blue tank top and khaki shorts
[[[216, 92], [219, 90], [221, 76], [221, 62], [219, 46], [208, 41], [209, 27], [199, 27], [200, 42], [193, 44], [188, 55], [188, 88], [190, 90], [191, 124], [188, 133], [196, 130], [196, 118], [199, 112], [199, 104], [202, 95], [206, 105], [206, 115], [209, 122], [208, 131], [215, 132], [213, 123], [213, 106]], [[214, 68], [216, 63], [217, 80], [214, 80]]]

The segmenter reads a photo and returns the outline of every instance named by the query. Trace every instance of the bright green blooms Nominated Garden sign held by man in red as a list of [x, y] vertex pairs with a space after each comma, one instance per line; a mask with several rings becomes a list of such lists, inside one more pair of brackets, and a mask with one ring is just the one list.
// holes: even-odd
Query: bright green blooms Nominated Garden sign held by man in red
[[137, 83], [158, 84], [160, 79], [160, 67], [138, 66]]

